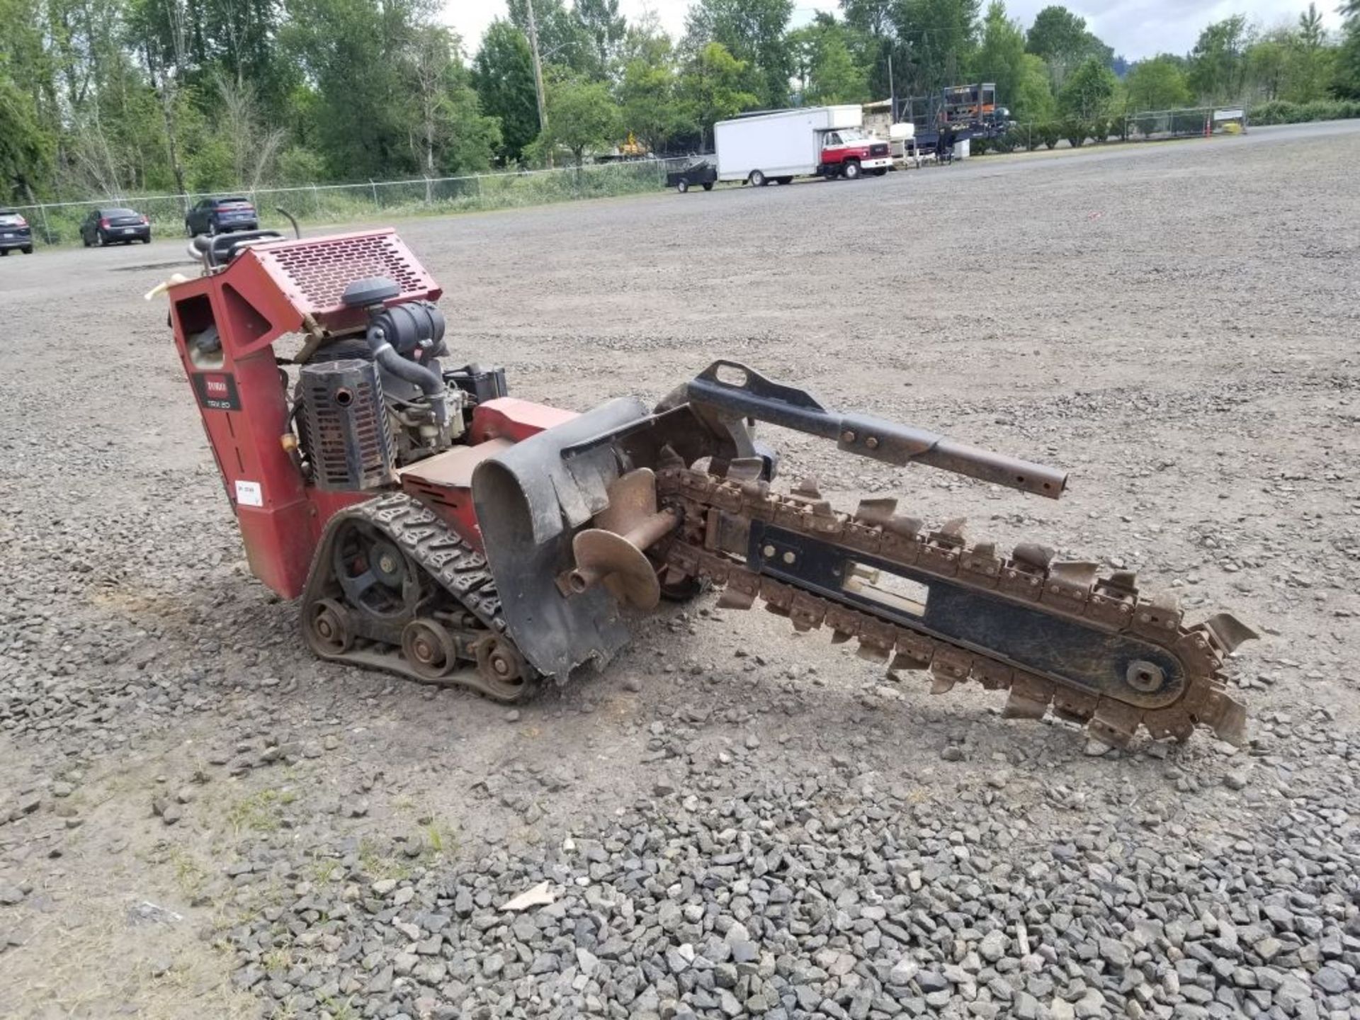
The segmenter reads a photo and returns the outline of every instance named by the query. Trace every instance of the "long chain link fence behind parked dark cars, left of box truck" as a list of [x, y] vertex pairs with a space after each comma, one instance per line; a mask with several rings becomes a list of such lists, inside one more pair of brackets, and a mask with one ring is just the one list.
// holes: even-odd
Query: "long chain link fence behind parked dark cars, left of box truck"
[[277, 209], [307, 223], [344, 223], [371, 216], [419, 216], [447, 212], [505, 209], [578, 199], [604, 199], [649, 192], [665, 185], [666, 174], [688, 158], [635, 159], [554, 170], [420, 177], [409, 181], [316, 184], [294, 188], [246, 188], [190, 194], [117, 194], [86, 201], [18, 205], [34, 234], [49, 245], [80, 241], [80, 223], [97, 208], [128, 207], [151, 220], [152, 234], [186, 234], [185, 214], [200, 199], [249, 199], [261, 227], [288, 227]]

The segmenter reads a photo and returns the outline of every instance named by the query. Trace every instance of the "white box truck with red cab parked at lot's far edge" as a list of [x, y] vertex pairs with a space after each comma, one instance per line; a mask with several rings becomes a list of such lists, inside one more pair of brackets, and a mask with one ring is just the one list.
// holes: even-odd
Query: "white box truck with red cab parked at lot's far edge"
[[885, 174], [888, 143], [862, 129], [858, 106], [804, 106], [752, 113], [713, 125], [718, 180], [760, 186], [794, 177], [855, 180]]

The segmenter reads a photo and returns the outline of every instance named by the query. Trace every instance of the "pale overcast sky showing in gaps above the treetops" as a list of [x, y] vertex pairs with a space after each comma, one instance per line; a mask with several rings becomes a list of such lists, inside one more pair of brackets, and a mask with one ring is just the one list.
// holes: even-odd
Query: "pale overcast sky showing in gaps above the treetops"
[[[839, 10], [836, 0], [794, 0], [794, 24], [812, 19], [816, 11]], [[1012, 18], [1020, 19], [1025, 27], [1034, 15], [1047, 7], [1049, 0], [1008, 0], [1006, 10]], [[1272, 27], [1280, 22], [1293, 22], [1308, 7], [1308, 0], [1081, 0], [1065, 4], [1087, 19], [1087, 26], [1115, 53], [1129, 60], [1151, 57], [1156, 53], [1186, 53], [1194, 46], [1200, 30], [1209, 22], [1216, 22], [1232, 14], [1246, 14], [1248, 18]], [[986, 7], [986, 0], [983, 0]], [[1336, 14], [1337, 0], [1322, 0], [1318, 4], [1329, 29], [1338, 29], [1341, 19]], [[619, 10], [630, 19], [639, 18], [653, 10], [661, 18], [661, 24], [672, 35], [684, 31], [684, 15], [690, 0], [619, 0]], [[481, 33], [492, 19], [506, 12], [505, 0], [446, 0], [445, 16], [462, 35], [466, 50], [475, 52]]]

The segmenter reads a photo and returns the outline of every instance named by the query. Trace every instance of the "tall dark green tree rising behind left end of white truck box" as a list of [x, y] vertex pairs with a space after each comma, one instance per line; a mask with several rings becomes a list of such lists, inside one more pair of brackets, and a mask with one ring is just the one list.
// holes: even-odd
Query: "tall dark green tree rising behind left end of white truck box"
[[764, 106], [786, 106], [793, 58], [786, 30], [793, 0], [698, 0], [685, 23], [687, 44], [721, 44], [745, 68], [745, 91]]

